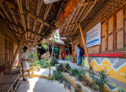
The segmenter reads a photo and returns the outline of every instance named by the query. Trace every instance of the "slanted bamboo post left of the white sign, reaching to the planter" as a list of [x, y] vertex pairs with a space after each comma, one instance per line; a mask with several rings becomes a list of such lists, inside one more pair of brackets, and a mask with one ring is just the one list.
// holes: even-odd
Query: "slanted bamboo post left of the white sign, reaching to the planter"
[[87, 51], [87, 47], [86, 47], [86, 41], [85, 41], [83, 31], [82, 31], [82, 28], [81, 28], [80, 24], [79, 24], [79, 29], [80, 29], [80, 33], [81, 33], [81, 37], [82, 37], [82, 41], [83, 41], [83, 45], [84, 45], [84, 50], [85, 50], [85, 53], [86, 53], [86, 56], [87, 56], [87, 59], [88, 59], [89, 67], [91, 68], [90, 59], [89, 59], [88, 51]]

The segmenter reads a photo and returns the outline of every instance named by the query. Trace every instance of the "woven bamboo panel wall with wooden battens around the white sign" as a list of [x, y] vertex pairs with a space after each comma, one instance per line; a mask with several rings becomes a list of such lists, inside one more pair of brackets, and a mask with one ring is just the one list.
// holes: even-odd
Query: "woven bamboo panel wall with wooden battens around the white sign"
[[[122, 51], [122, 48], [126, 46], [126, 26], [124, 26], [126, 25], [126, 8], [124, 7], [113, 13], [106, 20], [102, 21], [101, 45], [89, 47], [89, 54], [120, 52]], [[86, 32], [84, 35], [86, 35]], [[79, 43], [77, 44], [83, 45], [82, 38], [80, 37], [78, 40]]]

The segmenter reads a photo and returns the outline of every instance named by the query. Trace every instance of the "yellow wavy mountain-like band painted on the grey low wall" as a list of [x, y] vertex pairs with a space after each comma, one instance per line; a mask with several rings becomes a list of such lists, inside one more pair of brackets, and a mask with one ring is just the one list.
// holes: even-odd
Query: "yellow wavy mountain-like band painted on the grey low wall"
[[101, 71], [102, 69], [104, 69], [105, 71], [107, 71], [108, 76], [116, 80], [119, 80], [123, 83], [126, 83], [126, 78], [125, 78], [126, 65], [123, 65], [121, 68], [119, 68], [119, 70], [114, 70], [111, 63], [108, 61], [108, 59], [104, 59], [100, 65], [98, 65], [97, 62], [93, 60], [91, 66], [95, 71]]

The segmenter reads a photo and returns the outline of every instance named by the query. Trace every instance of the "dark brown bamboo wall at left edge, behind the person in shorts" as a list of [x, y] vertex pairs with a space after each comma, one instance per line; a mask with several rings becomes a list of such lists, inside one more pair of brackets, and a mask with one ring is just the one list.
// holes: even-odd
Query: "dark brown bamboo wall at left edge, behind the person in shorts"
[[[17, 46], [7, 34], [0, 32], [0, 67], [4, 66], [5, 71], [11, 69]], [[18, 56], [16, 59], [18, 59]]]

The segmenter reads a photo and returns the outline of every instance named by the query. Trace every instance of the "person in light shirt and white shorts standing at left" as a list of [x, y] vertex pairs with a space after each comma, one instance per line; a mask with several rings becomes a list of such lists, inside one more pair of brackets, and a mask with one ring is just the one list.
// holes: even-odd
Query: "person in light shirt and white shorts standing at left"
[[30, 68], [29, 68], [29, 65], [28, 65], [29, 59], [28, 59], [27, 54], [26, 54], [27, 50], [28, 50], [28, 48], [24, 47], [23, 52], [20, 55], [20, 63], [21, 63], [21, 67], [22, 67], [23, 81], [26, 81], [25, 76], [24, 76], [25, 71], [28, 72], [28, 76], [30, 78]]

